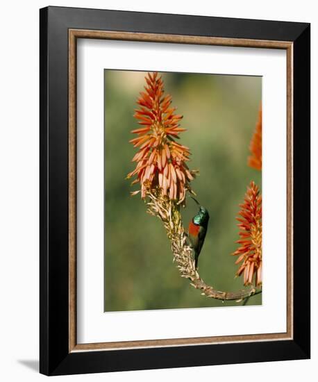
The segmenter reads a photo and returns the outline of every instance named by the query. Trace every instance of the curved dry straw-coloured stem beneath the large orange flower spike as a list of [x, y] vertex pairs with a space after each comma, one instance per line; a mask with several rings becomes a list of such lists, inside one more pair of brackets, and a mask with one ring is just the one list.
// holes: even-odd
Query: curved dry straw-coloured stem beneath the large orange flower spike
[[165, 226], [167, 236], [171, 241], [171, 251], [174, 255], [176, 267], [181, 273], [181, 277], [190, 280], [190, 285], [201, 290], [201, 294], [206, 297], [222, 301], [236, 300], [240, 302], [246, 299], [246, 297], [251, 297], [252, 295], [262, 292], [262, 290], [256, 290], [254, 287], [237, 292], [224, 292], [215, 290], [212, 286], [207, 285], [201, 279], [197, 269], [195, 269], [192, 249], [187, 244], [187, 235], [183, 228], [180, 205], [176, 204], [175, 201], [171, 201], [171, 199], [165, 195], [162, 195], [159, 188], [148, 190], [147, 197], [149, 197], [147, 212], [158, 217]]

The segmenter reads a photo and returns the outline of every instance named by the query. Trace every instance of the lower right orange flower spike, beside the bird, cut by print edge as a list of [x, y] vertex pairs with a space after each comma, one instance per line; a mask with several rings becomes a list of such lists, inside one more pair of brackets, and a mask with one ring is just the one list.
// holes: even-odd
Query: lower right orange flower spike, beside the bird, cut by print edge
[[255, 275], [255, 285], [262, 284], [262, 197], [258, 186], [251, 181], [245, 194], [244, 204], [240, 204], [240, 247], [233, 253], [239, 256], [235, 264], [240, 265], [237, 276], [244, 274], [244, 285], [251, 285]]

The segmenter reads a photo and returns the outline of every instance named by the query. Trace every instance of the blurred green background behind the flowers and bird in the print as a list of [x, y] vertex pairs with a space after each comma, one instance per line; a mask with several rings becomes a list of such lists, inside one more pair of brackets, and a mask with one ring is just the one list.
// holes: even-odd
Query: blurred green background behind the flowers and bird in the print
[[[201, 296], [179, 276], [169, 240], [159, 219], [146, 213], [140, 195], [131, 197], [136, 149], [128, 140], [137, 128], [135, 100], [147, 72], [105, 70], [105, 311], [235, 306]], [[197, 199], [210, 213], [199, 273], [218, 290], [242, 289], [235, 279], [238, 229], [235, 217], [251, 180], [261, 186], [261, 172], [246, 163], [262, 97], [262, 78], [212, 74], [160, 73], [172, 106], [183, 115], [182, 144], [190, 147], [190, 169]], [[197, 207], [183, 210], [185, 226]], [[262, 303], [262, 294], [248, 305]]]

